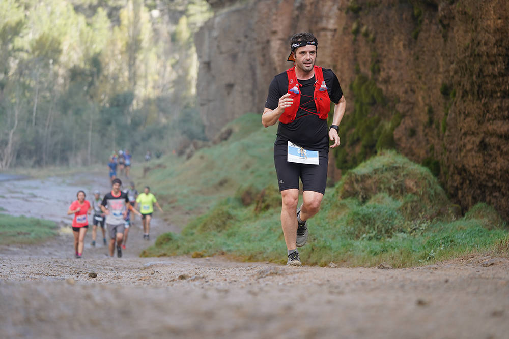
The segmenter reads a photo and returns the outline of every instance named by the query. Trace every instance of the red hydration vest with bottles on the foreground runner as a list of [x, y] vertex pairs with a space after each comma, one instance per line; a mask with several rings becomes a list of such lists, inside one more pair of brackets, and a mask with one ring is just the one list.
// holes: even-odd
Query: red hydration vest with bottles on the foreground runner
[[[325, 84], [323, 80], [323, 72], [320, 66], [315, 66], [315, 94], [314, 100], [317, 106], [317, 113], [308, 111], [309, 113], [316, 114], [322, 120], [327, 119], [330, 111], [330, 98], [329, 93], [327, 91], [327, 87], [322, 87], [320, 90], [322, 83]], [[288, 93], [290, 93], [290, 98], [293, 98], [293, 104], [290, 107], [285, 108], [285, 111], [279, 117], [279, 121], [283, 124], [289, 124], [293, 120], [295, 120], [295, 115], [297, 115], [297, 111], [300, 107], [300, 84], [297, 81], [297, 76], [295, 75], [295, 66], [287, 70], [288, 75]], [[294, 88], [295, 87], [295, 88]], [[297, 89], [297, 90], [295, 90]]]

